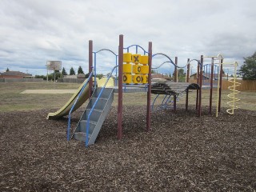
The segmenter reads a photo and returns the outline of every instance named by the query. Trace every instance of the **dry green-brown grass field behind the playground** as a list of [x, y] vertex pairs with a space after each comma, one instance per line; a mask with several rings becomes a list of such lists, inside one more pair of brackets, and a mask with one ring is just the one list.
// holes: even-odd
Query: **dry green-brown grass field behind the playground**
[[[54, 83], [54, 82], [24, 82], [24, 83], [1, 83], [0, 84], [0, 111], [16, 110], [41, 110], [58, 109], [62, 107], [72, 96], [72, 94], [20, 94], [24, 90], [68, 90], [78, 89], [80, 84], [74, 83]], [[222, 90], [222, 107], [228, 107], [227, 94], [229, 90]], [[153, 101], [155, 95], [152, 94]], [[162, 102], [163, 96], [159, 97], [157, 104]], [[190, 92], [189, 105], [195, 104], [196, 91]], [[210, 90], [202, 90], [202, 106], [209, 106]], [[256, 110], [256, 92], [241, 91], [238, 94], [241, 100], [237, 106], [241, 109]], [[114, 95], [113, 106], [117, 106], [118, 94]], [[186, 94], [179, 97], [178, 105], [185, 104]], [[217, 91], [214, 90], [213, 107], [217, 101]], [[146, 105], [146, 93], [124, 94], [123, 105]]]

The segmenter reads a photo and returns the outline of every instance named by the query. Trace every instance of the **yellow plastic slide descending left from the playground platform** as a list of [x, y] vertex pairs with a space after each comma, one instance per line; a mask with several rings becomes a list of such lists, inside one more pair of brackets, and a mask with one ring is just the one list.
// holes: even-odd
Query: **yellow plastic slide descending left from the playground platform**
[[[104, 86], [106, 79], [107, 78], [102, 78], [102, 79], [98, 80], [98, 78], [97, 78], [96, 81], [97, 81], [98, 87]], [[80, 90], [82, 90], [82, 86], [84, 86], [85, 83], [86, 83], [86, 80], [82, 83], [82, 85], [78, 88], [78, 90], [73, 94], [72, 98], [70, 98], [70, 100], [68, 102], [66, 102], [66, 104], [64, 106], [62, 106], [62, 108], [59, 109], [58, 111], [56, 111], [55, 113], [49, 113], [47, 116], [47, 119], [57, 119], [57, 118], [61, 118], [62, 116], [69, 114], [71, 107], [73, 106], [76, 98], [78, 97]], [[113, 78], [110, 78], [109, 82], [106, 83], [106, 87], [110, 87], [110, 86], [114, 86]], [[82, 104], [84, 102], [86, 102], [86, 100], [89, 98], [89, 88], [88, 87], [89, 86], [86, 85], [85, 89], [82, 91], [80, 98], [78, 98], [78, 102], [74, 106], [73, 112], [75, 110], [77, 110], [80, 106], [82, 106]]]

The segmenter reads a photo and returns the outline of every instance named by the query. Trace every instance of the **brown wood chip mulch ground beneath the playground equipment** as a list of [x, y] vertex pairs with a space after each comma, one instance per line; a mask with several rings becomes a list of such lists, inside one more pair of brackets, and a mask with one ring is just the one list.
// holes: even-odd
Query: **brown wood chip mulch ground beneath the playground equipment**
[[113, 107], [89, 148], [52, 111], [0, 113], [0, 191], [256, 190], [256, 111], [158, 110], [146, 132], [146, 107], [124, 106], [118, 141]]

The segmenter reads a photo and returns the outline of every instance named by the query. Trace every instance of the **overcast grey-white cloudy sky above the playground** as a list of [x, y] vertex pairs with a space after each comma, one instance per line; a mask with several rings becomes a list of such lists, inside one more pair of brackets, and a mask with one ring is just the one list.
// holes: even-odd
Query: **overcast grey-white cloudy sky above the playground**
[[[255, 7], [255, 0], [0, 0], [0, 72], [46, 74], [49, 60], [62, 61], [68, 73], [71, 66], [87, 72], [89, 40], [94, 51], [118, 53], [119, 34], [124, 46], [147, 50], [152, 42], [153, 53], [177, 56], [179, 66], [219, 53], [242, 65], [256, 51]], [[154, 58], [153, 65], [162, 62]], [[97, 63], [106, 74], [115, 58], [99, 54]]]

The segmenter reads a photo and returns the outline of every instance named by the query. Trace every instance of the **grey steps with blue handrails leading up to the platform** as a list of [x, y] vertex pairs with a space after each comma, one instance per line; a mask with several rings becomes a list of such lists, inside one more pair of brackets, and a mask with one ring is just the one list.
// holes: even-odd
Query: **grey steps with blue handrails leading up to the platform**
[[[98, 95], [100, 94], [102, 88], [97, 88], [94, 91], [94, 94], [90, 98], [88, 105], [86, 106], [86, 110], [83, 112], [82, 117], [80, 118], [78, 125], [74, 131], [73, 137], [76, 140], [86, 142], [86, 124], [88, 115], [90, 114], [91, 108], [94, 106]], [[109, 113], [111, 104], [114, 100], [114, 89], [113, 88], [105, 88], [102, 91], [102, 95], [98, 98], [98, 102], [96, 103], [94, 110], [90, 116], [90, 127], [88, 134], [88, 146], [94, 144], [99, 131], [102, 128], [102, 124], [106, 119], [106, 115]]]

